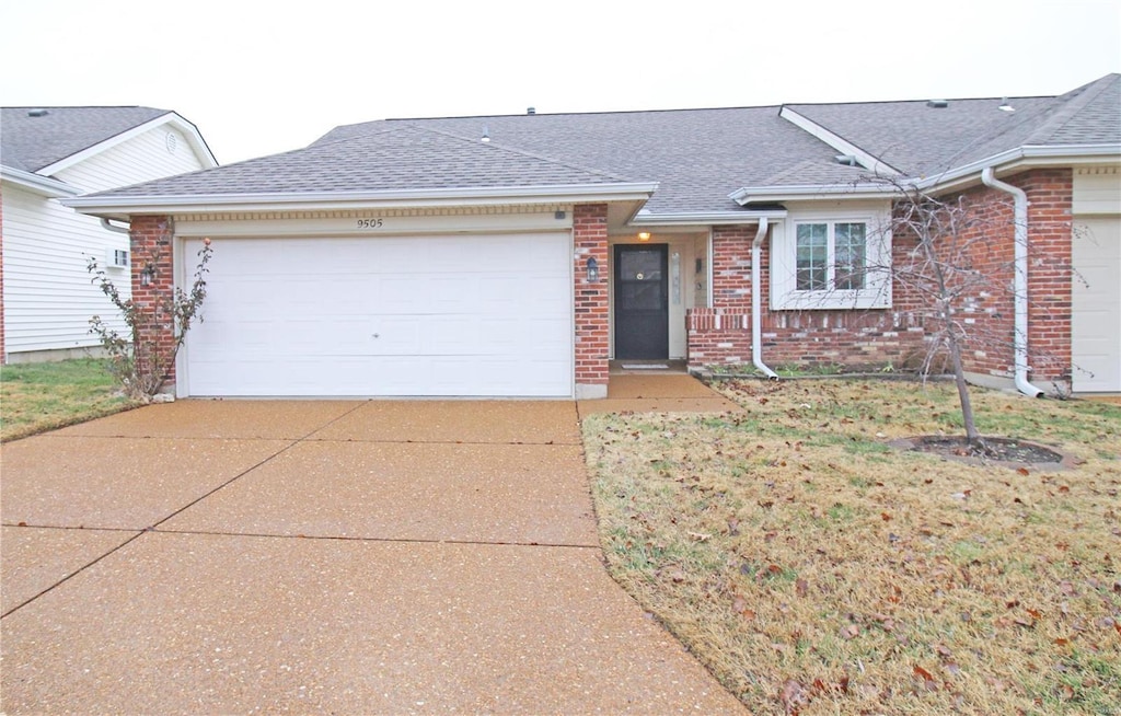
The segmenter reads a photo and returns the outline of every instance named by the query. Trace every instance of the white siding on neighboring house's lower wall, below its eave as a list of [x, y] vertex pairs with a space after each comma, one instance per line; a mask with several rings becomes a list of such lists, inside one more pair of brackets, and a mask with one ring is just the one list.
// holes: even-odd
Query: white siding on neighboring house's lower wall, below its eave
[[[105, 266], [109, 252], [128, 248], [127, 235], [105, 231], [96, 218], [4, 184], [3, 310], [8, 353], [96, 345], [89, 334], [94, 315], [123, 331], [123, 320], [90, 282], [85, 267], [89, 255]], [[129, 270], [109, 269], [108, 273], [127, 298]]]

